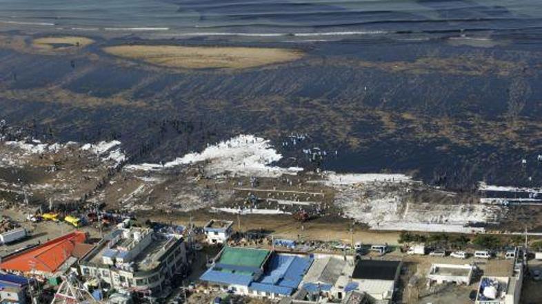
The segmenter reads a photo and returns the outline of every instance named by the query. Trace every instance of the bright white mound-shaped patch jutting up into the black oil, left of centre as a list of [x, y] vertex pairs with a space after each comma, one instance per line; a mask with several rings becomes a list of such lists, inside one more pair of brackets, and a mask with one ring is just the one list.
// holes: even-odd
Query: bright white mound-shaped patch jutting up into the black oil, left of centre
[[271, 166], [281, 160], [269, 140], [254, 135], [238, 135], [230, 140], [219, 142], [205, 148], [201, 153], [189, 153], [164, 164], [137, 164], [126, 166], [128, 170], [157, 171], [183, 164], [205, 162], [205, 173], [216, 175], [241, 175], [254, 177], [279, 177], [283, 174], [296, 174], [303, 169], [288, 169]]

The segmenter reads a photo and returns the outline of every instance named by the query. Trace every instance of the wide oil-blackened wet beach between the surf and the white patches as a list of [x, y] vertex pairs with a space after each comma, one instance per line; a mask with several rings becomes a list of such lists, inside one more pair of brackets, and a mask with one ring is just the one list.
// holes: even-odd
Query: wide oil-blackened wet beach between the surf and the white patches
[[[463, 190], [479, 180], [542, 181], [542, 52], [528, 43], [239, 43], [305, 56], [194, 70], [117, 58], [103, 47], [230, 43], [90, 37], [91, 45], [37, 50], [33, 38], [0, 37], [0, 118], [46, 140], [118, 139], [130, 162], [159, 162], [248, 133], [270, 139], [285, 166], [410, 173]], [[291, 133], [307, 138], [285, 144]], [[327, 155], [310, 162], [302, 151], [315, 146]]]

